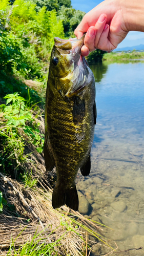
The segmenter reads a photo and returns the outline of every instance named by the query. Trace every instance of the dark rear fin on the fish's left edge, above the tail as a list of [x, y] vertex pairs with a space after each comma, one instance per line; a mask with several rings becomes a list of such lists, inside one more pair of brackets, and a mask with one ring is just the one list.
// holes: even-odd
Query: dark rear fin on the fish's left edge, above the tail
[[44, 158], [45, 158], [46, 170], [47, 172], [51, 172], [51, 170], [54, 168], [55, 162], [53, 157], [50, 154], [46, 138], [44, 143]]

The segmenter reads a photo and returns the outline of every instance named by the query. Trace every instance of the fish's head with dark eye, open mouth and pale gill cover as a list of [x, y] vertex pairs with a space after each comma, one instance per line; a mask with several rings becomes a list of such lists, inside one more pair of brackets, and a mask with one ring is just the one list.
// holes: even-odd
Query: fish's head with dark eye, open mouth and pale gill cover
[[55, 88], [62, 96], [72, 97], [85, 87], [89, 69], [81, 47], [84, 38], [54, 38], [55, 44], [51, 54], [50, 68], [54, 77]]

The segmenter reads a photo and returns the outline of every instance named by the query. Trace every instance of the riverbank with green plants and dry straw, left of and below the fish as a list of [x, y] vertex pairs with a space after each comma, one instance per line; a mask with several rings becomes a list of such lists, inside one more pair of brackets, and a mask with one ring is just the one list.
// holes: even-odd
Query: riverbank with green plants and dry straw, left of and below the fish
[[43, 153], [46, 85], [0, 79], [0, 255], [89, 254], [99, 246], [97, 223], [84, 218], [83, 209], [52, 208], [56, 169], [46, 172]]

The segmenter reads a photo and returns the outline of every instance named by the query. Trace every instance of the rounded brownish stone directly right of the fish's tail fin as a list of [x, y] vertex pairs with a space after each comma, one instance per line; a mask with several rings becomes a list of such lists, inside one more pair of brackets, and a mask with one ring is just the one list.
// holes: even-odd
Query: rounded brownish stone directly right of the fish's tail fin
[[80, 191], [77, 191], [77, 194], [79, 198], [78, 211], [80, 214], [87, 215], [90, 209], [90, 203]]

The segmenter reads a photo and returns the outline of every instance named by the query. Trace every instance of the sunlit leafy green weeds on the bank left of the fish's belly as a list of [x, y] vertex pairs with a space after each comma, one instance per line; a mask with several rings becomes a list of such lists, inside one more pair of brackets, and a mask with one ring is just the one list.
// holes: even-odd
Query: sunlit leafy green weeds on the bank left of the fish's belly
[[37, 152], [43, 152], [44, 135], [40, 134], [39, 123], [35, 121], [31, 108], [28, 108], [29, 101], [18, 93], [6, 95], [4, 98], [7, 99], [6, 104], [0, 105], [0, 114], [5, 118], [0, 122], [0, 138], [3, 144], [0, 161], [3, 171], [9, 173], [11, 168], [16, 170], [24, 162], [30, 161], [29, 155], [24, 154], [26, 140], [27, 143], [35, 145]]

